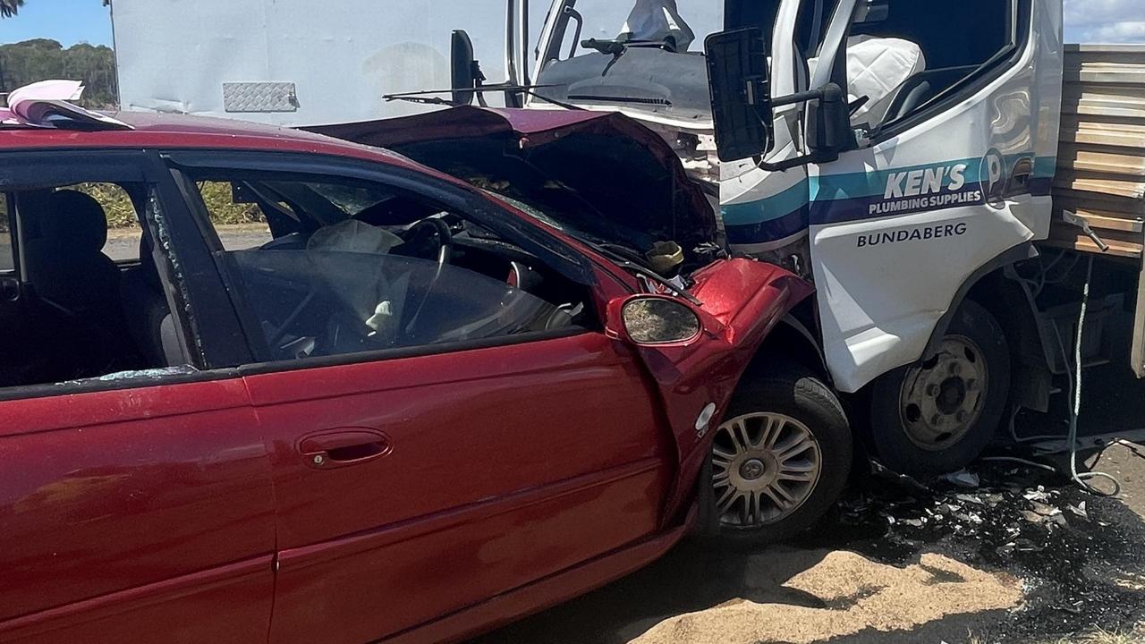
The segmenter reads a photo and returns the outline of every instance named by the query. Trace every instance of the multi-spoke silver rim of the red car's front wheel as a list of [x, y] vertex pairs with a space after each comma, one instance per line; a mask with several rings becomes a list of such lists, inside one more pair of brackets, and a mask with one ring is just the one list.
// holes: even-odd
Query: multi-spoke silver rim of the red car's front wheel
[[819, 485], [823, 453], [815, 434], [783, 414], [727, 421], [712, 445], [712, 486], [720, 525], [755, 529], [802, 508]]

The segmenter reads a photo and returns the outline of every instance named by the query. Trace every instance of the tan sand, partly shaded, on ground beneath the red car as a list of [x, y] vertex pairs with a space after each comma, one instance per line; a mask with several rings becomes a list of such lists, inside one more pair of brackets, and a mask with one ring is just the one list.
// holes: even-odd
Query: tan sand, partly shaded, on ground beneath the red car
[[686, 543], [473, 644], [954, 644], [1009, 619], [1022, 599], [1018, 579], [947, 555], [898, 566], [846, 550], [720, 556]]

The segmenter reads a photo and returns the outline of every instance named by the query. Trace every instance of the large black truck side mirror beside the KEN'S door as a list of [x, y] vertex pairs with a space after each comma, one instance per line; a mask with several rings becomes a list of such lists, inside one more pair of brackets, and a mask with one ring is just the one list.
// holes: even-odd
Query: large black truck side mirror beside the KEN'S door
[[774, 115], [764, 31], [713, 33], [704, 49], [720, 160], [767, 155], [774, 146]]

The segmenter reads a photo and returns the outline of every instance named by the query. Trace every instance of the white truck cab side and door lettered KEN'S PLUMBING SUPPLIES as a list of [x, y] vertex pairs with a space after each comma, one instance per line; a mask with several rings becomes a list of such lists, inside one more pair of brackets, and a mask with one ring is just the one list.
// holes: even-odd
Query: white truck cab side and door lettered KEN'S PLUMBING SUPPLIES
[[917, 361], [977, 277], [1048, 235], [1060, 17], [1060, 0], [836, 7], [811, 86], [846, 79], [858, 144], [811, 164], [808, 184], [824, 350], [842, 391]]

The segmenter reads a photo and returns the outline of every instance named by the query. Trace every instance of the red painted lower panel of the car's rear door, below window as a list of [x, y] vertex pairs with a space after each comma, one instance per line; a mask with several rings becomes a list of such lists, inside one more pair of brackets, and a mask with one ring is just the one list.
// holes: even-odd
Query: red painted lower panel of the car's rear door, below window
[[[14, 400], [0, 416], [0, 641], [179, 620], [173, 589], [190, 581], [216, 597], [271, 587], [270, 472], [240, 380]], [[269, 620], [269, 597], [238, 597], [236, 623]], [[208, 621], [184, 634], [218, 633]]]

